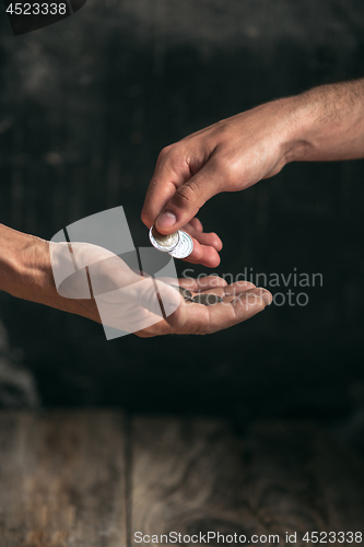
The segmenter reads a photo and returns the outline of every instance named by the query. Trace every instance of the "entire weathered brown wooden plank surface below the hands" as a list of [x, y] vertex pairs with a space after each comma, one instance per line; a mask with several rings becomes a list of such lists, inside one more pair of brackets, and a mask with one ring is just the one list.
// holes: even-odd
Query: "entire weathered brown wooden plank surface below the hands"
[[307, 545], [314, 531], [364, 532], [364, 463], [310, 426], [0, 414], [0, 547], [146, 545], [137, 532]]

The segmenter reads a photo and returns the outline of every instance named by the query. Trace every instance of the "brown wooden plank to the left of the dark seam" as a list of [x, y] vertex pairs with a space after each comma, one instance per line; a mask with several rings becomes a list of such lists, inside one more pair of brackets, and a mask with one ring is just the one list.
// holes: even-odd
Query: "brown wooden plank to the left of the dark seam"
[[124, 419], [0, 414], [1, 547], [124, 547]]

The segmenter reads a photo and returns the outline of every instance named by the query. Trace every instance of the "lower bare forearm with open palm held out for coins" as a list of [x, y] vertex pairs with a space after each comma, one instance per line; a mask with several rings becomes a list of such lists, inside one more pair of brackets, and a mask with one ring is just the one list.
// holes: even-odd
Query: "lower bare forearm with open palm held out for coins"
[[[64, 247], [57, 246], [67, 244], [49, 244], [47, 241], [16, 232], [0, 224], [0, 290], [23, 300], [45, 304], [101, 323], [94, 298], [64, 298], [57, 292], [51, 268], [50, 245], [54, 245], [52, 253], [56, 252], [57, 254], [57, 248], [64, 249]], [[265, 310], [266, 305], [270, 304], [272, 300], [267, 290], [257, 289], [249, 282], [237, 282], [227, 286], [223, 279], [214, 276], [200, 280], [181, 279], [180, 284], [189, 289], [192, 294], [200, 292], [214, 293], [223, 299], [223, 303], [210, 307], [187, 303], [175, 289], [168, 286], [163, 288], [158, 284], [160, 294], [163, 291], [172, 291], [174, 300], [177, 298], [179, 302], [180, 299], [179, 305], [177, 303], [178, 307], [174, 307], [176, 311], [166, 318], [162, 318], [153, 315], [156, 313], [153, 307], [153, 302], [156, 300], [155, 288], [153, 282], [148, 283], [148, 277], [144, 277], [140, 283], [140, 274], [137, 275], [119, 257], [102, 247], [89, 244], [71, 245], [73, 246], [73, 253], [85, 253], [92, 258], [95, 256], [97, 259], [99, 258], [95, 263], [94, 274], [97, 276], [96, 281], [101, 281], [103, 287], [128, 288], [127, 291], [122, 291], [120, 300], [117, 296], [114, 299], [111, 293], [111, 300], [109, 300], [110, 313], [106, 315], [107, 321], [111, 322], [108, 326], [115, 326], [113, 322], [116, 321], [116, 328], [119, 328], [120, 319], [126, 317], [128, 321], [132, 319], [134, 324], [137, 321], [142, 324], [151, 315], [152, 319], [156, 317], [156, 321], [151, 326], [140, 330], [132, 330], [142, 338], [166, 334], [203, 335], [215, 333], [253, 317]], [[62, 253], [60, 253], [60, 256], [62, 256]], [[91, 264], [91, 261], [86, 261], [86, 264]], [[77, 280], [73, 289], [75, 289], [75, 294], [80, 294], [77, 292]], [[151, 296], [154, 296], [154, 299]], [[165, 300], [163, 302], [165, 303]]]

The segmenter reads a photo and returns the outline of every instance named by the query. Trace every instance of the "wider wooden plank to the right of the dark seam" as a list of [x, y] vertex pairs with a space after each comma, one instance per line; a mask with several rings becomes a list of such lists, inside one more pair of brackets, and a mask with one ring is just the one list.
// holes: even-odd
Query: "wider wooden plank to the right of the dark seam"
[[297, 532], [301, 546], [305, 532], [364, 531], [363, 462], [310, 426], [260, 424], [239, 440], [221, 422], [140, 418], [132, 440], [132, 540], [210, 531], [285, 545]]

